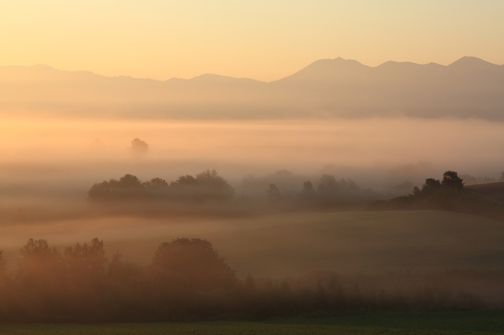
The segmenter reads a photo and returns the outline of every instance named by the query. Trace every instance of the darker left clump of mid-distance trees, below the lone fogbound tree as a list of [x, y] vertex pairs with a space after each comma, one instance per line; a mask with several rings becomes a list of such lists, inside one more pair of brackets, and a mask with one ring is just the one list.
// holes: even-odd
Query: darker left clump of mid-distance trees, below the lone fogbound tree
[[94, 184], [88, 191], [88, 200], [92, 203], [166, 199], [227, 201], [233, 197], [233, 193], [233, 188], [217, 171], [206, 170], [196, 177], [180, 176], [170, 184], [161, 178], [142, 182], [136, 176], [125, 175], [119, 180], [110, 179]]

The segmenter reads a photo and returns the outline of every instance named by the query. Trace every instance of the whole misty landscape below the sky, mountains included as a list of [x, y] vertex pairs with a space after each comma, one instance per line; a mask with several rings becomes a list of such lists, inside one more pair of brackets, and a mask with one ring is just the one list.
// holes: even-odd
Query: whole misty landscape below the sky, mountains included
[[503, 66], [0, 66], [0, 332], [502, 333]]

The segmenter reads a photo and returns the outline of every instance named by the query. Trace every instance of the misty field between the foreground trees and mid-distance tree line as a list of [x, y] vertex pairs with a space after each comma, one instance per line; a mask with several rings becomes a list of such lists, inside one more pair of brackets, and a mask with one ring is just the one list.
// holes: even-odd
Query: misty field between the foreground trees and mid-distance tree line
[[29, 237], [60, 249], [98, 236], [108, 256], [147, 264], [163, 241], [210, 240], [238, 277], [504, 267], [504, 224], [443, 211], [303, 212], [230, 219], [108, 217], [0, 227], [11, 265]]

